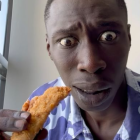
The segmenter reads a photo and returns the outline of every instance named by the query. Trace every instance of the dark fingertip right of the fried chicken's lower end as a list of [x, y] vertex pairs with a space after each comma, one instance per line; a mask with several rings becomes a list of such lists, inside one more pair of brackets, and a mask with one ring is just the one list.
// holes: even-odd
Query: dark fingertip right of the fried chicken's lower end
[[46, 129], [40, 130], [40, 132], [36, 135], [34, 140], [43, 140], [47, 137], [48, 131]]

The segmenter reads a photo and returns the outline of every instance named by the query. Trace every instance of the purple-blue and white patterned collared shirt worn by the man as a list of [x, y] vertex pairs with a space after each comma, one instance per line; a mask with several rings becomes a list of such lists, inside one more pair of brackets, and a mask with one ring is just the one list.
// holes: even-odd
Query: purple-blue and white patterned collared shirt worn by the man
[[[125, 77], [128, 95], [127, 112], [113, 140], [140, 140], [140, 75], [126, 69]], [[39, 87], [29, 99], [43, 94], [46, 89], [54, 86], [65, 86], [65, 84], [59, 77]], [[94, 140], [71, 94], [50, 113], [44, 128], [48, 130], [48, 137], [44, 140]]]

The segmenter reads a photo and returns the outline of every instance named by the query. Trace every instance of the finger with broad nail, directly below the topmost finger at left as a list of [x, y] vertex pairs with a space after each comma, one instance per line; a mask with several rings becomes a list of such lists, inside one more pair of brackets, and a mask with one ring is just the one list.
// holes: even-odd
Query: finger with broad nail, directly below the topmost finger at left
[[27, 121], [25, 119], [15, 119], [13, 117], [0, 118], [0, 130], [9, 132], [18, 132], [27, 128]]

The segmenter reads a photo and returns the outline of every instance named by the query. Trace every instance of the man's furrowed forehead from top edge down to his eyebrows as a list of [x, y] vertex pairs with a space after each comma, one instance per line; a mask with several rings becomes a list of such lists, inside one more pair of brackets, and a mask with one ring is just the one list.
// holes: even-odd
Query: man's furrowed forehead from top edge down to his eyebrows
[[54, 0], [50, 7], [48, 26], [51, 25], [51, 30], [55, 31], [79, 23], [96, 26], [99, 21], [119, 21], [124, 24], [125, 19], [116, 0]]

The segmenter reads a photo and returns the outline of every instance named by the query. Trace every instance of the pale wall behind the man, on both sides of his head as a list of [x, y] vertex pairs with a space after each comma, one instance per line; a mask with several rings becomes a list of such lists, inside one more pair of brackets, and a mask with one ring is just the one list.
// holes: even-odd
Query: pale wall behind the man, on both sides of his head
[[[126, 0], [132, 25], [128, 67], [140, 73], [140, 0]], [[49, 59], [43, 19], [46, 0], [14, 0], [4, 108], [20, 110], [34, 89], [58, 76]]]

